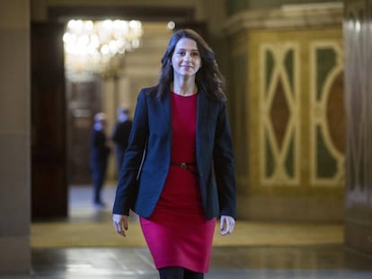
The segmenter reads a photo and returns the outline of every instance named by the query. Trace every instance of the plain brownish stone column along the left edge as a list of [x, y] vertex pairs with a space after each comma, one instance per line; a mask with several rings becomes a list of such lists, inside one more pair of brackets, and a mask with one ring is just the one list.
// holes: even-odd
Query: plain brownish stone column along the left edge
[[0, 3], [0, 273], [27, 274], [30, 245], [30, 1]]

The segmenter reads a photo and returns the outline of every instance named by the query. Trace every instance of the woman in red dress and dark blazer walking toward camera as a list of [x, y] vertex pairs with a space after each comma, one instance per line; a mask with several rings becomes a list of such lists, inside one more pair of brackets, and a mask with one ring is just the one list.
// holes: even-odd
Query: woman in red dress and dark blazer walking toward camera
[[112, 209], [127, 235], [130, 209], [139, 215], [160, 278], [203, 278], [213, 235], [232, 233], [235, 160], [224, 77], [198, 33], [173, 34], [159, 82], [142, 89]]

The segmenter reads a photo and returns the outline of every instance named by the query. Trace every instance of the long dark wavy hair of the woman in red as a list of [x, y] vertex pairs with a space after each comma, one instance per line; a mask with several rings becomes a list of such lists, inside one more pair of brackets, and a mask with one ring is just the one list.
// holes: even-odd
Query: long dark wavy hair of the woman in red
[[195, 82], [200, 90], [215, 100], [226, 100], [225, 78], [218, 69], [215, 53], [201, 36], [190, 29], [175, 31], [162, 58], [162, 70], [157, 85], [158, 97], [163, 97], [173, 82], [172, 56], [180, 39], [193, 39], [199, 48], [201, 67], [196, 74]]

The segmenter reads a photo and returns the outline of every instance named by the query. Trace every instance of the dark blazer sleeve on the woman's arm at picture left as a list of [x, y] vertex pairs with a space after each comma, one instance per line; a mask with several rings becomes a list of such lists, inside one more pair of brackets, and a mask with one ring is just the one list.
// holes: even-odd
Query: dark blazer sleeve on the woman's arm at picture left
[[135, 115], [129, 134], [128, 148], [124, 154], [123, 166], [120, 172], [113, 214], [128, 215], [137, 198], [137, 174], [140, 170], [142, 156], [145, 153], [146, 137], [148, 135], [146, 92], [142, 89], [137, 97]]

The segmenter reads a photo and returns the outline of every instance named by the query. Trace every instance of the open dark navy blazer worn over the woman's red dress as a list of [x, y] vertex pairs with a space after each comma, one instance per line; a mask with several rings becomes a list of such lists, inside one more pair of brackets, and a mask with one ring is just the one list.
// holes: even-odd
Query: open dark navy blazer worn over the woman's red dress
[[[171, 163], [171, 99], [170, 92], [163, 98], [156, 97], [155, 92], [155, 87], [145, 88], [137, 97], [113, 214], [128, 215], [131, 208], [138, 215], [149, 217], [162, 193]], [[235, 161], [226, 105], [200, 91], [196, 158], [201, 199], [207, 218], [218, 215], [235, 218]]]

